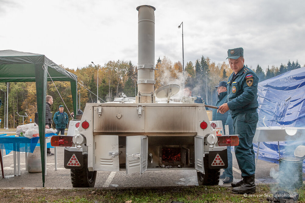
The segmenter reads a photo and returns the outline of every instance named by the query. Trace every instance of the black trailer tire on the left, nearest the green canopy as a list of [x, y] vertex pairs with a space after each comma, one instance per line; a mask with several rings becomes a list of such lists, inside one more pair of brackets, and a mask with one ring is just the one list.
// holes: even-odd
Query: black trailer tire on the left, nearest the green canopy
[[88, 156], [84, 155], [84, 166], [82, 169], [70, 169], [73, 187], [94, 187], [96, 171], [88, 171]]

